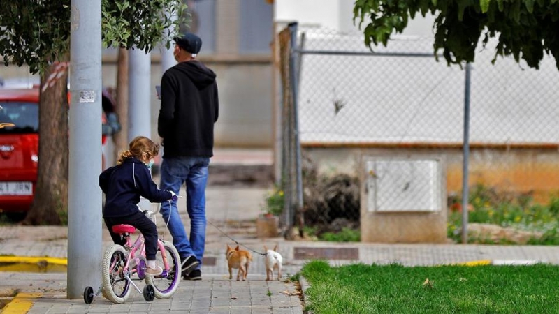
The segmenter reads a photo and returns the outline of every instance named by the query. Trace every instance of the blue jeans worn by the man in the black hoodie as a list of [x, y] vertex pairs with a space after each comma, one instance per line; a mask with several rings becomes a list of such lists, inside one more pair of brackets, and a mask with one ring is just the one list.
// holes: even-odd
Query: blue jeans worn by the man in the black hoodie
[[173, 245], [181, 259], [184, 260], [190, 255], [196, 256], [196, 260], [200, 262], [197, 269], [202, 266], [205, 247], [205, 186], [208, 182], [208, 165], [208, 157], [163, 158], [161, 163], [161, 190], [172, 190], [179, 195], [180, 186], [186, 182], [190, 240], [180, 220], [177, 201], [162, 202], [161, 215], [168, 223]]

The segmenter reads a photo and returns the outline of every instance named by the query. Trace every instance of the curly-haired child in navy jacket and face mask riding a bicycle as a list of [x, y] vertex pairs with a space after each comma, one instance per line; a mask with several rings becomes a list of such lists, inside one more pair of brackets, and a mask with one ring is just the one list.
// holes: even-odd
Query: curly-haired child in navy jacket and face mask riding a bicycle
[[147, 276], [159, 276], [163, 271], [155, 263], [157, 253], [157, 227], [139, 210], [140, 196], [150, 202], [165, 202], [175, 197], [175, 193], [159, 190], [148, 169], [153, 158], [159, 154], [159, 145], [145, 136], [138, 136], [130, 142], [129, 150], [120, 154], [117, 165], [99, 175], [99, 186], [106, 195], [103, 219], [110, 237], [115, 244], [124, 244], [118, 234], [112, 232], [113, 225], [133, 225], [142, 232], [145, 239]]

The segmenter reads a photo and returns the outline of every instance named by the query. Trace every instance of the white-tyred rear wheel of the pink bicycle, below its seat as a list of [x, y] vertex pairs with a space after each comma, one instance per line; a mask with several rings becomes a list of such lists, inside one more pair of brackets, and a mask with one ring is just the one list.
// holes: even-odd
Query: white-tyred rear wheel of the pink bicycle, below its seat
[[126, 302], [130, 296], [130, 282], [124, 278], [124, 272], [127, 272], [124, 269], [127, 260], [128, 252], [118, 244], [109, 246], [103, 256], [101, 265], [103, 288], [101, 291], [104, 297], [116, 304]]

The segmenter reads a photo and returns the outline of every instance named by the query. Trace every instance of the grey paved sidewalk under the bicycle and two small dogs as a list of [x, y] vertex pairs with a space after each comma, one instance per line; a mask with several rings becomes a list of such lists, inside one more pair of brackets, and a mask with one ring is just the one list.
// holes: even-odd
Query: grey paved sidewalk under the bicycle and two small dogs
[[[259, 156], [263, 155], [266, 152]], [[220, 158], [226, 160], [227, 156]], [[224, 253], [226, 244], [234, 244], [230, 238], [257, 252], [262, 252], [264, 245], [270, 247], [277, 244], [279, 253], [284, 257], [284, 279], [296, 274], [305, 261], [315, 258], [329, 260], [334, 265], [363, 262], [429, 266], [474, 261], [559, 264], [559, 246], [334, 244], [286, 241], [279, 237], [257, 239], [254, 219], [261, 213], [267, 191], [268, 187], [259, 185], [208, 186], [209, 223], [202, 267], [203, 280], [181, 281], [171, 299], [147, 302], [142, 294], [132, 290], [125, 304], [112, 304], [101, 296], [96, 297], [92, 304], [85, 304], [82, 299], [66, 299], [67, 278], [64, 272], [0, 271], [1, 292], [18, 290], [27, 293], [16, 297], [2, 313], [303, 313], [303, 301], [298, 297], [296, 284], [290, 281], [265, 281], [266, 271], [260, 255], [253, 254], [254, 261], [250, 265], [247, 281], [229, 281]], [[181, 194], [184, 195], [184, 190]], [[181, 217], [185, 226], [188, 226], [186, 204], [179, 204]], [[162, 219], [157, 221], [157, 225], [160, 236], [170, 240]], [[3, 226], [0, 227], [0, 257], [66, 258], [67, 236], [66, 227]], [[110, 243], [108, 232], [103, 227], [103, 247]], [[87, 285], [84, 283], [84, 287]], [[139, 287], [143, 287], [142, 283]]]

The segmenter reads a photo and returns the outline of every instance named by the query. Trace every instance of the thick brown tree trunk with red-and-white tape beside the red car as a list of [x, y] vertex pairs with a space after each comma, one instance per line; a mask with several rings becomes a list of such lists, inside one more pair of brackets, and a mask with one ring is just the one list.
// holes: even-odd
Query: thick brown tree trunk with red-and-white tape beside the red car
[[68, 63], [54, 63], [41, 75], [39, 161], [35, 196], [24, 225], [68, 221]]

